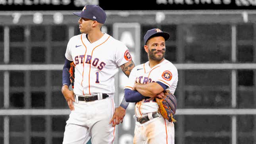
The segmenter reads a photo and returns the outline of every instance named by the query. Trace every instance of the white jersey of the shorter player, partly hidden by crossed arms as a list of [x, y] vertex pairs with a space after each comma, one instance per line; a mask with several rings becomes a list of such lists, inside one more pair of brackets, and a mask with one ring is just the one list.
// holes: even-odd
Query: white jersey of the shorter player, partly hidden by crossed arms
[[[167, 85], [167, 90], [174, 94], [178, 83], [178, 71], [173, 63], [168, 60], [164, 60], [152, 68], [149, 66], [149, 61], [147, 61], [133, 68], [125, 88], [132, 90], [135, 81], [142, 84], [161, 82]], [[142, 117], [142, 115], [155, 111], [158, 111], [158, 104], [155, 98], [143, 99], [135, 105], [135, 115], [137, 117]]]

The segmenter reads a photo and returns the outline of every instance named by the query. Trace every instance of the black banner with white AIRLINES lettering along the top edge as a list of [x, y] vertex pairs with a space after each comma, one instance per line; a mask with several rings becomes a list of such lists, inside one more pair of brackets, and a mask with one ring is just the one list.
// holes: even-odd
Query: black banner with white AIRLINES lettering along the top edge
[[254, 10], [256, 0], [0, 0], [0, 11], [82, 10]]

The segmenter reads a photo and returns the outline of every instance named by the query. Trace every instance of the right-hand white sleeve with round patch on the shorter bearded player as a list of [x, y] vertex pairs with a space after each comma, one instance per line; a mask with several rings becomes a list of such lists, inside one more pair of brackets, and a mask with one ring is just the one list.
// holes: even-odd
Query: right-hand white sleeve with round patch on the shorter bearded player
[[178, 71], [176, 67], [161, 67], [158, 74], [154, 75], [156, 82], [160, 82], [171, 88], [173, 83], [178, 81]]

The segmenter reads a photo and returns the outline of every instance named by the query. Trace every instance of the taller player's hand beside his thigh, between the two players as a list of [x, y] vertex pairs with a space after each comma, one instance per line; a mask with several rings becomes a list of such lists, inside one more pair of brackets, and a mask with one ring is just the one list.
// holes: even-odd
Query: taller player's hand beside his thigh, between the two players
[[115, 125], [119, 125], [119, 123], [123, 123], [123, 117], [125, 116], [125, 109], [119, 106], [118, 108], [115, 108], [114, 115], [112, 119], [110, 120], [109, 124], [113, 122], [112, 127], [115, 127]]

